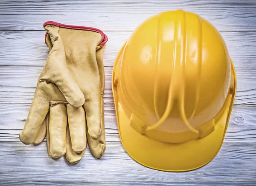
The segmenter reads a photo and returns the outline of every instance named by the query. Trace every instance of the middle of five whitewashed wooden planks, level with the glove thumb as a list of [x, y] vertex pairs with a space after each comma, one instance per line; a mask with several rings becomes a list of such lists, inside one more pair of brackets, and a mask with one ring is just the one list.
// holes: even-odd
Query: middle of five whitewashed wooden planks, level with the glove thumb
[[[43, 67], [0, 66], [0, 103], [31, 103], [42, 69]], [[105, 67], [105, 103], [113, 103], [112, 70], [112, 67]], [[256, 104], [256, 68], [244, 65], [237, 67], [236, 76], [235, 104]]]

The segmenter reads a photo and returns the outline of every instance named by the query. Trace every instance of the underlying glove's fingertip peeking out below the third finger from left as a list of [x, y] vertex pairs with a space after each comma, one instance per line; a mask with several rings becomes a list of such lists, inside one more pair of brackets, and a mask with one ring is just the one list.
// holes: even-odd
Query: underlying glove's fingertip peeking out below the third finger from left
[[70, 163], [78, 163], [83, 155], [84, 155], [84, 152], [85, 152], [85, 149], [86, 149], [86, 142], [85, 142], [85, 148], [82, 152], [79, 152], [79, 153], [76, 153], [73, 151], [73, 146], [72, 146], [72, 143], [71, 143], [71, 138], [70, 138], [70, 130], [69, 130], [70, 127], [67, 127], [67, 144], [66, 144], [66, 159], [67, 161], [69, 161]]

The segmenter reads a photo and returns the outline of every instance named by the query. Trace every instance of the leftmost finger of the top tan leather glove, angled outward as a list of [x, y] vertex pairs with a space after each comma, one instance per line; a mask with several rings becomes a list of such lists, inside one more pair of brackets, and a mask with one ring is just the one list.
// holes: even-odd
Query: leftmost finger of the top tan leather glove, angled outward
[[25, 126], [19, 135], [20, 141], [24, 144], [32, 144], [38, 136], [41, 125], [49, 111], [49, 102], [42, 96], [44, 90], [38, 87], [29, 109]]

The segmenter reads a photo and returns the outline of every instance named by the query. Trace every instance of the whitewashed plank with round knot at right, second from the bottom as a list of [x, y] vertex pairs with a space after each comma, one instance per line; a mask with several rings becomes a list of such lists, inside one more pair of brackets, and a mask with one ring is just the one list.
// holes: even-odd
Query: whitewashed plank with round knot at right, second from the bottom
[[[0, 141], [19, 142], [30, 104], [0, 104]], [[105, 104], [106, 141], [120, 141], [114, 104]], [[14, 117], [15, 116], [15, 117]], [[225, 135], [225, 143], [256, 143], [256, 107], [235, 105]]]

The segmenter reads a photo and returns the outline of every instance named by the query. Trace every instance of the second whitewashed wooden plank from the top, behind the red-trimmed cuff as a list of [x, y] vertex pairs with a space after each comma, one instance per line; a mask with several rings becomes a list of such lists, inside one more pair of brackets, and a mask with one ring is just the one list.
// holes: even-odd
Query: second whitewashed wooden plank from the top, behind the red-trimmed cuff
[[[112, 67], [116, 56], [132, 32], [106, 31], [104, 65]], [[44, 66], [49, 53], [45, 31], [0, 31], [0, 66]], [[256, 68], [256, 32], [221, 32], [236, 67]]]

